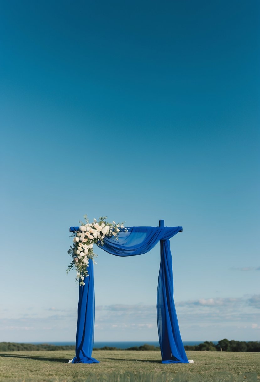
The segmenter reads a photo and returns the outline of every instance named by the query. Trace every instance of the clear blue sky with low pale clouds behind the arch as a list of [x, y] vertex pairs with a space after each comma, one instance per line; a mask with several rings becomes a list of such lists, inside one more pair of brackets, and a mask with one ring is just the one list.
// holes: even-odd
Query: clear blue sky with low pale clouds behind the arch
[[[183, 226], [182, 339], [260, 340], [259, 3], [1, 4], [0, 341], [73, 341], [69, 227]], [[96, 341], [158, 339], [159, 244], [96, 249]]]

